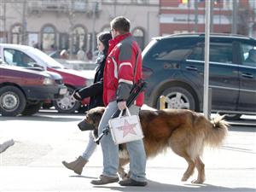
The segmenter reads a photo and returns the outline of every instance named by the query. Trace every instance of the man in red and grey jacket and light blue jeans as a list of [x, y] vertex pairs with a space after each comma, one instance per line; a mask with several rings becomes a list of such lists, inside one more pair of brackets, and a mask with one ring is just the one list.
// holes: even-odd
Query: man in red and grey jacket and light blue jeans
[[[99, 124], [99, 134], [108, 125], [108, 120], [117, 110], [126, 108], [132, 84], [142, 79], [142, 55], [135, 38], [130, 33], [130, 20], [123, 16], [110, 22], [113, 39], [109, 41], [108, 58], [103, 74], [103, 102], [107, 108]], [[131, 114], [138, 114], [143, 105], [143, 93], [129, 108]], [[115, 145], [111, 133], [102, 137], [103, 154], [102, 175], [92, 180], [94, 185], [119, 182], [122, 186], [147, 185], [145, 167], [146, 153], [143, 139], [126, 143], [130, 156], [130, 177], [119, 181], [119, 146]]]

